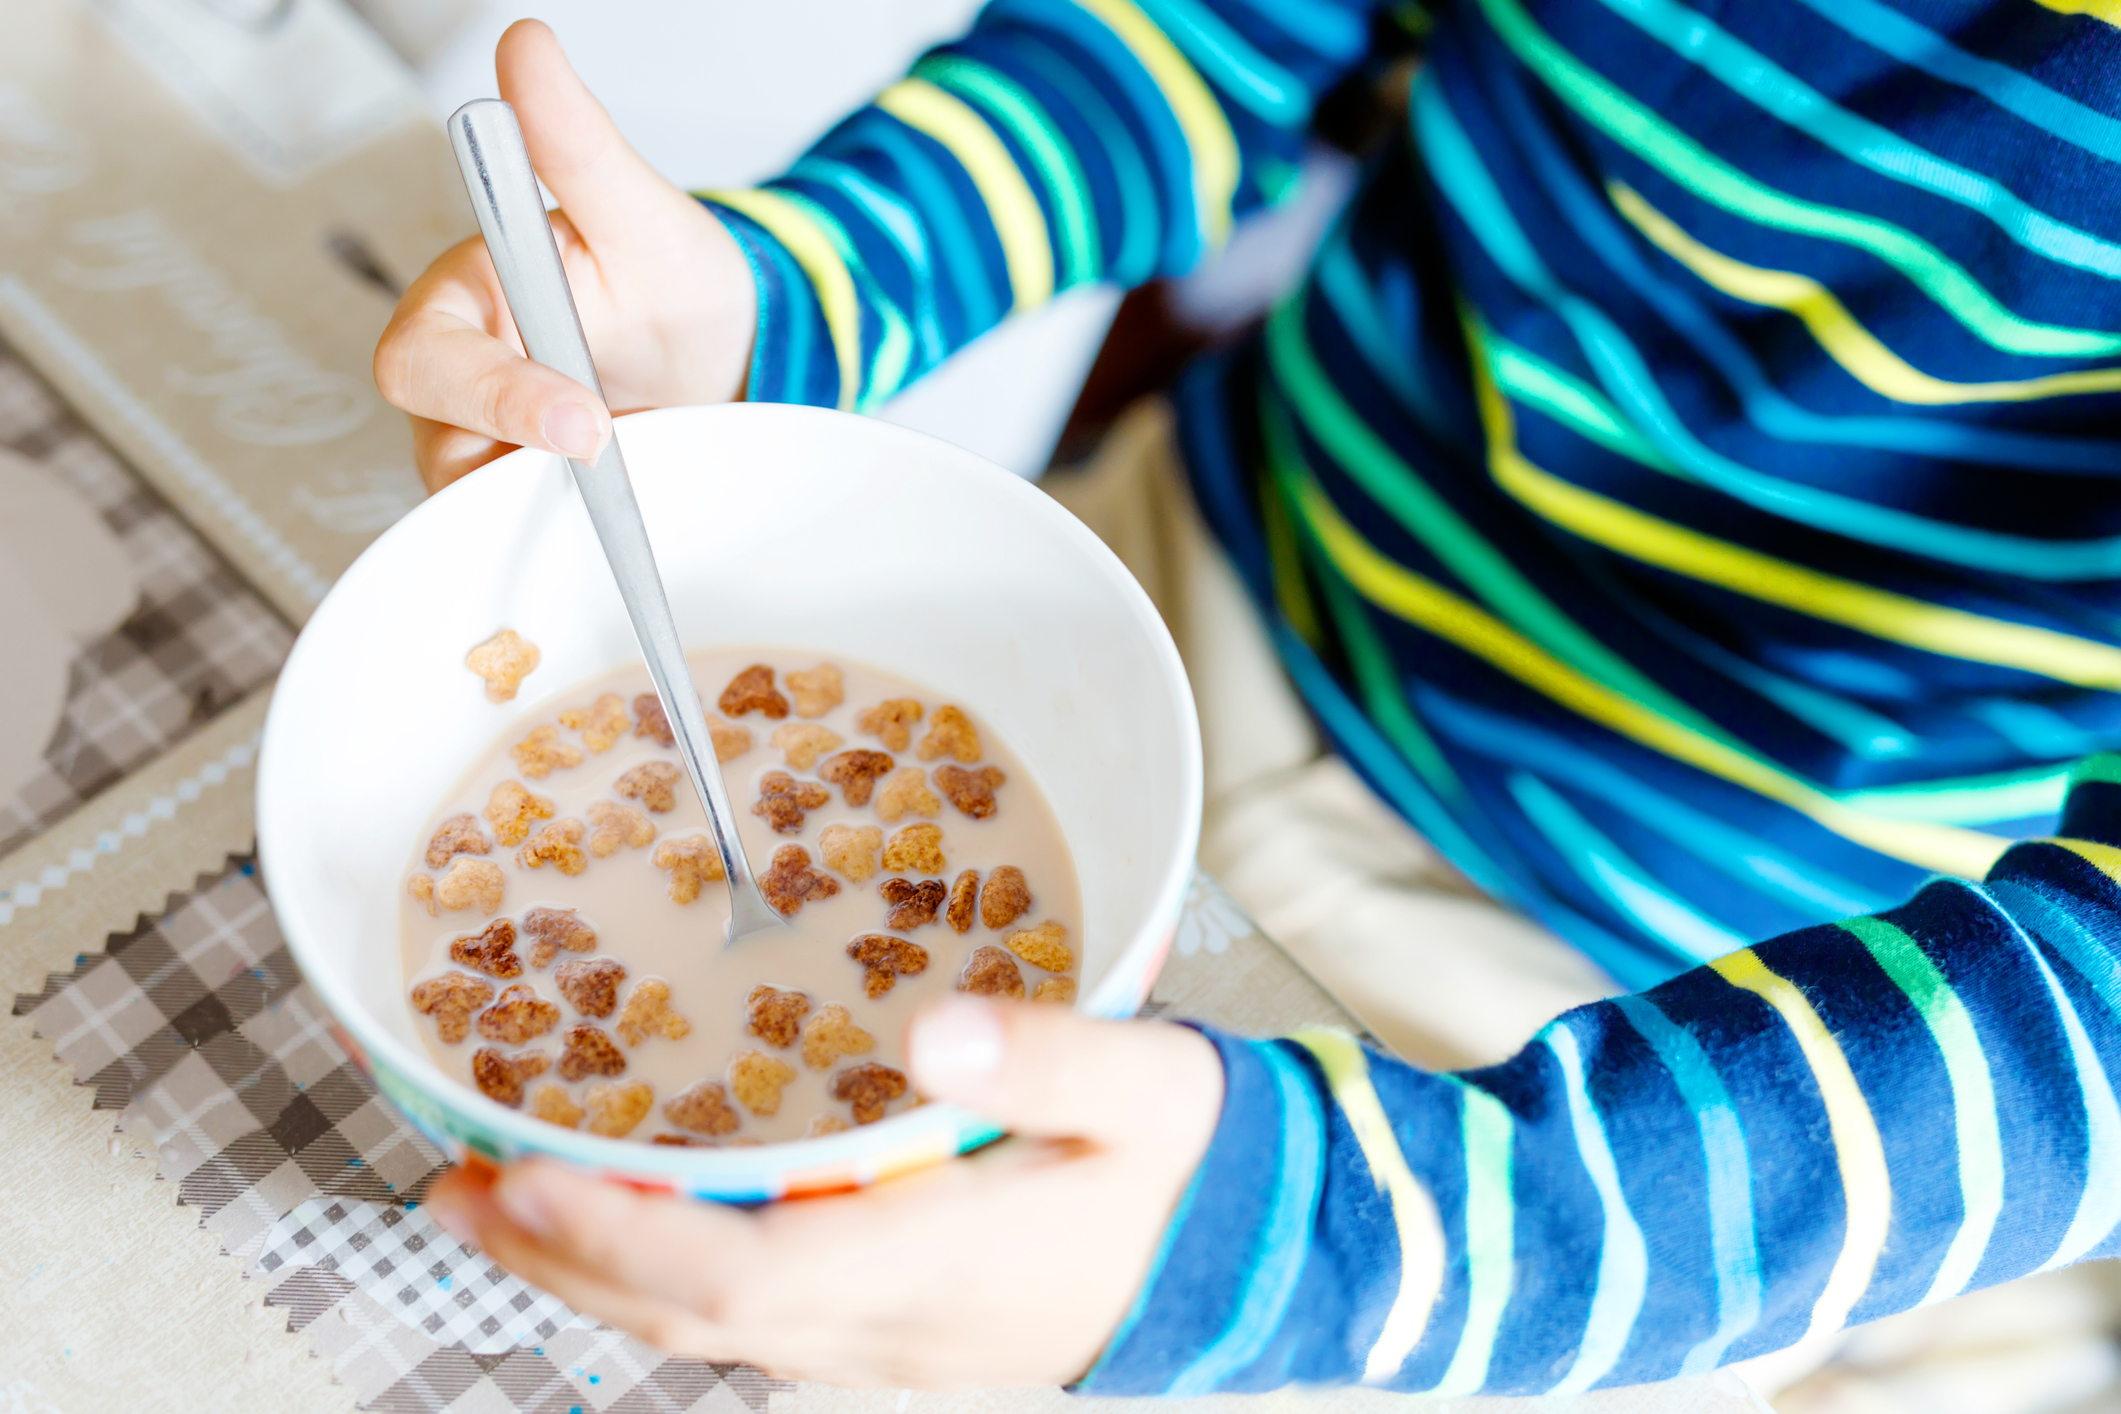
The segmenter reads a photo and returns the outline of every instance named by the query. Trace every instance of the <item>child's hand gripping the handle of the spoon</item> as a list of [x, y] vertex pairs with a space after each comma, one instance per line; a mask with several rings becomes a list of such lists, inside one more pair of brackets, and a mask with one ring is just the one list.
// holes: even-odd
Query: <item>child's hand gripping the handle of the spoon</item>
[[[736, 240], [641, 161], [543, 23], [511, 25], [494, 72], [560, 199], [551, 227], [611, 405], [738, 396], [757, 293]], [[479, 237], [405, 290], [375, 348], [375, 386], [411, 413], [431, 492], [518, 445], [594, 458], [611, 435], [594, 392], [524, 358]]]

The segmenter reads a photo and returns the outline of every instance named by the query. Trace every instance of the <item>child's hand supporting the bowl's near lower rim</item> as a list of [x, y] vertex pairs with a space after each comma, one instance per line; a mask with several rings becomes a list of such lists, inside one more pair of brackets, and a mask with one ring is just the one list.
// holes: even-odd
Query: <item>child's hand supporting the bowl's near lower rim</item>
[[554, 1164], [456, 1170], [450, 1232], [649, 1344], [834, 1384], [1082, 1376], [1147, 1276], [1222, 1111], [1207, 1039], [950, 998], [914, 1022], [918, 1090], [1010, 1126], [980, 1155], [755, 1213]]

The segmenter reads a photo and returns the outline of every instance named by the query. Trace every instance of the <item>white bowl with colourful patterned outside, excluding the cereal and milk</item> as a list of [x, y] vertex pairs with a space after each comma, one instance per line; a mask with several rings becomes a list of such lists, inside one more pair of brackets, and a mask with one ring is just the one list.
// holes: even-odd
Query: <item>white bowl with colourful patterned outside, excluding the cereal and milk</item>
[[[974, 706], [1052, 801], [1084, 909], [1082, 1011], [1130, 1015], [1171, 945], [1200, 831], [1200, 736], [1147, 596], [1044, 492], [867, 418], [747, 403], [621, 418], [687, 647], [787, 644], [876, 664]], [[795, 564], [791, 545], [802, 545]], [[995, 1134], [923, 1104], [755, 1149], [560, 1130], [445, 1079], [405, 1005], [409, 844], [509, 727], [464, 670], [501, 628], [543, 653], [522, 702], [638, 661], [566, 464], [515, 452], [418, 507], [318, 606], [274, 689], [259, 854], [280, 929], [339, 1039], [435, 1143], [547, 1153], [702, 1198], [867, 1183]]]

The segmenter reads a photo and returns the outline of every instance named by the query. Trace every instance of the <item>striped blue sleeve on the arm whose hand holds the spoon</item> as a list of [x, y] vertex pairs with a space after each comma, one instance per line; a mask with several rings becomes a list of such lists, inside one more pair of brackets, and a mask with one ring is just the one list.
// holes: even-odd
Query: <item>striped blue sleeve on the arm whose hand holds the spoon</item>
[[1374, 0], [993, 0], [785, 176], [706, 193], [751, 261], [749, 396], [870, 409], [1077, 284], [1190, 269], [1290, 184]]

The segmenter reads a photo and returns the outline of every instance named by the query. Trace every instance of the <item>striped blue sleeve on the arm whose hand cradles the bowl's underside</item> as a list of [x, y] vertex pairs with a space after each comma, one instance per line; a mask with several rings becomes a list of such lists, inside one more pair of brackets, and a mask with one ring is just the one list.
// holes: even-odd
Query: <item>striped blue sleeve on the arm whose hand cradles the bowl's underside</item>
[[1222, 1126], [1084, 1389], [1637, 1384], [2117, 1251], [2121, 757], [1981, 884], [1430, 1075], [1213, 1037]]

